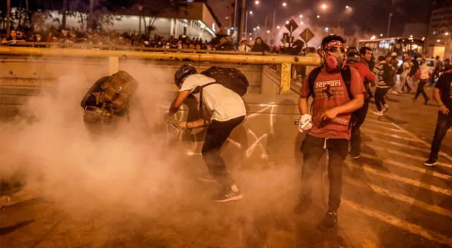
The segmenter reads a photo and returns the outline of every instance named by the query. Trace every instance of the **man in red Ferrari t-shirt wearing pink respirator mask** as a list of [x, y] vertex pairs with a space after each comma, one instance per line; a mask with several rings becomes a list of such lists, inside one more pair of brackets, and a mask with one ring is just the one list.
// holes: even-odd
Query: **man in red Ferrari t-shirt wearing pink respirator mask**
[[[305, 80], [299, 98], [299, 111], [302, 118], [299, 124], [301, 132], [307, 132], [302, 143], [302, 190], [296, 213], [304, 213], [311, 204], [312, 175], [319, 166], [323, 151], [329, 155], [328, 178], [330, 192], [328, 211], [319, 224], [319, 229], [334, 228], [338, 221], [338, 208], [342, 194], [342, 171], [348, 154], [350, 140], [351, 113], [364, 104], [364, 85], [361, 76], [350, 68], [350, 93], [343, 80], [341, 70], [345, 66], [345, 40], [338, 35], [323, 38], [320, 54], [326, 65], [316, 77], [314, 85], [309, 85], [309, 76]], [[311, 92], [311, 89], [314, 89]], [[309, 114], [308, 98], [313, 95], [312, 116]], [[309, 131], [308, 131], [309, 130]]]

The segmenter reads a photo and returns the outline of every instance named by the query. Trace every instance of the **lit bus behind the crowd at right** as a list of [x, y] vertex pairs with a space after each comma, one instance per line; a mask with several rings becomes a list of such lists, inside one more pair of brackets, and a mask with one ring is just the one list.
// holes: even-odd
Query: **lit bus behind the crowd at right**
[[369, 46], [374, 51], [374, 56], [384, 56], [396, 52], [398, 56], [408, 54], [412, 57], [416, 54], [424, 55], [424, 37], [389, 37], [381, 39], [362, 39], [359, 40], [359, 47]]

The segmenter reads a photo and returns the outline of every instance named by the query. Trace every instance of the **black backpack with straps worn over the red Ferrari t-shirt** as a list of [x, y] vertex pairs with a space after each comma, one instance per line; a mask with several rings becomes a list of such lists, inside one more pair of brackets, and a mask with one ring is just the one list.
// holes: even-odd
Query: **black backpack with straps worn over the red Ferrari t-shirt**
[[[321, 70], [323, 67], [319, 66], [314, 68], [314, 70], [309, 73], [308, 77], [308, 84], [309, 84], [309, 90], [311, 92], [312, 97], [314, 97], [314, 83], [316, 82], [317, 77], [319, 76]], [[352, 91], [350, 89], [351, 83], [352, 83], [352, 71], [350, 70], [350, 66], [345, 66], [343, 69], [340, 70], [340, 75], [342, 76], [343, 81], [345, 82], [345, 87], [347, 87], [347, 93], [348, 98], [350, 100], [353, 99]], [[364, 93], [367, 94], [367, 93]], [[365, 99], [365, 96], [364, 96]], [[358, 119], [362, 116], [362, 111], [364, 111], [363, 108], [357, 109], [352, 112], [352, 118], [350, 118], [350, 128], [355, 125], [355, 123], [358, 122]]]

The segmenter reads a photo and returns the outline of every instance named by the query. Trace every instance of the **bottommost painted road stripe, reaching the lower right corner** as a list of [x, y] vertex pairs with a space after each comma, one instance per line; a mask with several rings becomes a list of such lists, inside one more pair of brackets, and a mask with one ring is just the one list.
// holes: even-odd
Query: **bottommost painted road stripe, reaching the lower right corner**
[[355, 202], [349, 201], [347, 199], [342, 199], [342, 202], [350, 206], [350, 208], [355, 209], [356, 211], [361, 211], [362, 213], [367, 214], [368, 216], [379, 219], [380, 221], [386, 222], [391, 225], [395, 225], [398, 228], [403, 230], [407, 230], [410, 233], [415, 235], [420, 235], [428, 240], [432, 240], [434, 242], [439, 242], [441, 244], [452, 245], [452, 238], [447, 237], [445, 235], [436, 233], [432, 230], [426, 230], [421, 228], [419, 225], [415, 225], [413, 223], [409, 223], [408, 221], [404, 221], [396, 216], [391, 216], [387, 213], [383, 213], [381, 211], [376, 211], [374, 209], [368, 208], [366, 206], [359, 206]]

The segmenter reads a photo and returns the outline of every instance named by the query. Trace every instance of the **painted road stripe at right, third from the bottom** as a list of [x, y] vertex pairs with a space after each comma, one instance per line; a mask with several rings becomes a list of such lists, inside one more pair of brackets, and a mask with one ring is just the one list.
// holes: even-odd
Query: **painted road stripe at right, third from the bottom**
[[428, 185], [427, 183], [420, 182], [420, 181], [417, 181], [417, 180], [412, 180], [410, 178], [404, 178], [403, 176], [400, 176], [400, 175], [394, 175], [394, 174], [387, 173], [387, 172], [384, 172], [384, 171], [379, 171], [379, 170], [376, 170], [374, 168], [371, 168], [371, 166], [367, 166], [366, 164], [364, 164], [362, 166], [356, 166], [356, 165], [354, 165], [354, 164], [352, 164], [352, 163], [350, 163], [348, 161], [346, 161], [345, 163], [347, 163], [349, 166], [354, 167], [354, 168], [362, 168], [364, 171], [367, 171], [367, 172], [372, 173], [374, 175], [379, 175], [379, 176], [381, 176], [383, 178], [388, 178], [388, 179], [391, 179], [391, 180], [397, 180], [399, 182], [403, 182], [403, 183], [406, 183], [408, 185], [412, 185], [412, 186], [415, 186], [415, 187], [422, 187], [425, 190], [430, 190], [430, 191], [434, 191], [434, 192], [437, 192], [437, 193], [440, 193], [440, 194], [446, 194], [448, 196], [452, 196], [452, 191], [451, 190], [446, 190], [446, 189], [444, 189], [442, 187], [437, 187], [437, 186], [434, 186], [434, 185]]

